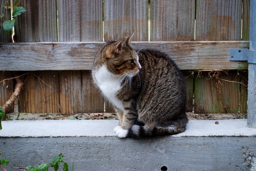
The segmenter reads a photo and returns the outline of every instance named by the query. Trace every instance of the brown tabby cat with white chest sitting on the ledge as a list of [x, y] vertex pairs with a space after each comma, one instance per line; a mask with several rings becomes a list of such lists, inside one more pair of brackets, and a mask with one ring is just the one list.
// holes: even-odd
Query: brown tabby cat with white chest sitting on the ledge
[[120, 138], [173, 135], [186, 130], [186, 90], [177, 65], [156, 50], [131, 48], [133, 34], [108, 41], [93, 64], [93, 83], [116, 108]]

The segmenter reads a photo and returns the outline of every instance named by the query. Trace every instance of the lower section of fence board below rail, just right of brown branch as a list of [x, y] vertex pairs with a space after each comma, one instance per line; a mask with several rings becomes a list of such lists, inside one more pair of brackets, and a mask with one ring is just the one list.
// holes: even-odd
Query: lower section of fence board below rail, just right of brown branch
[[19, 112], [59, 113], [58, 71], [29, 73], [20, 92]]

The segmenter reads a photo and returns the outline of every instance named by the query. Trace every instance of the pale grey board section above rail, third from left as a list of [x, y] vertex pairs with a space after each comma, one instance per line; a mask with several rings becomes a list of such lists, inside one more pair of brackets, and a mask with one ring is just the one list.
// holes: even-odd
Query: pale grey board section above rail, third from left
[[102, 0], [58, 0], [59, 42], [102, 41]]

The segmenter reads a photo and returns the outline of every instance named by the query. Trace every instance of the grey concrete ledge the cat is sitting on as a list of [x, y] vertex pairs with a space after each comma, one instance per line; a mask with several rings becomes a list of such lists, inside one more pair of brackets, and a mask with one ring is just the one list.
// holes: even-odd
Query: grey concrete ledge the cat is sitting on
[[118, 121], [3, 121], [2, 157], [8, 171], [64, 161], [84, 170], [255, 170], [256, 129], [247, 120], [189, 121], [186, 132], [140, 140], [119, 139]]

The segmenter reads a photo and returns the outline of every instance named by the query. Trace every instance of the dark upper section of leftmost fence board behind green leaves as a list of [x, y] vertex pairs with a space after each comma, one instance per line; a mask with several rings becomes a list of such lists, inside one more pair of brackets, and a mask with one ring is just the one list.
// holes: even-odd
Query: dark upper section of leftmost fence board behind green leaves
[[[10, 20], [11, 14], [6, 14], [6, 9], [3, 8], [3, 4], [6, 2], [8, 2], [10, 5], [10, 0], [0, 0], [0, 14], [4, 14], [4, 20]], [[3, 23], [3, 21], [0, 20], [0, 23]], [[0, 28], [0, 42], [11, 42], [11, 36], [9, 36], [6, 31], [3, 30], [3, 27]]]

